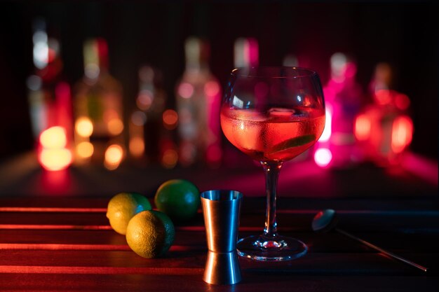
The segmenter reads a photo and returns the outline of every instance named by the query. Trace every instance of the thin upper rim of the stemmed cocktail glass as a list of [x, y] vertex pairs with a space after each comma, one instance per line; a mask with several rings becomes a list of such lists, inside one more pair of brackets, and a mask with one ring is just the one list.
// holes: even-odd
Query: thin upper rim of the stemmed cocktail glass
[[[254, 69], [256, 72], [253, 74], [252, 69]], [[281, 74], [273, 74], [273, 76], [267, 76], [266, 74], [258, 74], [258, 71], [275, 71], [275, 70], [290, 70], [292, 72], [297, 72], [298, 74], [295, 76], [288, 75], [288, 76], [281, 76]], [[243, 74], [242, 72], [245, 71], [246, 74]], [[299, 73], [300, 72], [300, 73]], [[278, 76], [276, 76], [278, 75]], [[295, 78], [305, 78], [305, 77], [313, 77], [318, 76], [317, 72], [304, 68], [304, 67], [286, 67], [286, 66], [258, 66], [258, 67], [238, 67], [231, 71], [231, 76], [236, 77], [245, 77], [245, 78], [288, 78], [288, 79], [295, 79]]]

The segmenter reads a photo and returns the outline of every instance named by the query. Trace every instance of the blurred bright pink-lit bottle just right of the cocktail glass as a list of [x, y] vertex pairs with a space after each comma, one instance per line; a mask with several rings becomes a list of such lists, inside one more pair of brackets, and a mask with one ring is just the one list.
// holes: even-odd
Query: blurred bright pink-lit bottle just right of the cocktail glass
[[363, 107], [363, 90], [356, 82], [357, 66], [343, 53], [330, 59], [331, 77], [323, 88], [326, 105], [325, 130], [315, 147], [314, 160], [326, 167], [352, 167], [363, 160], [353, 125]]

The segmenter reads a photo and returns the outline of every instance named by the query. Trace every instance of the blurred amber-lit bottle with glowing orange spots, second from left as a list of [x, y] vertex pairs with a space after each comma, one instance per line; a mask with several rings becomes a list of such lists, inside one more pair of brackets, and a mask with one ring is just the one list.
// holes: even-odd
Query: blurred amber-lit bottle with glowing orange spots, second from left
[[83, 46], [84, 76], [74, 92], [75, 161], [119, 167], [125, 156], [121, 83], [109, 74], [104, 39]]

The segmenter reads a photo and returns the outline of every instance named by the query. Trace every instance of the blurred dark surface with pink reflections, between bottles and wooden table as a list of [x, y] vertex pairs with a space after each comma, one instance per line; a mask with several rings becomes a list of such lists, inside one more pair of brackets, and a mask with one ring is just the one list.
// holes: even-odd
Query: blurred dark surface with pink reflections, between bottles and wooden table
[[[201, 191], [227, 186], [241, 191], [244, 197], [263, 197], [264, 175], [260, 167], [250, 159], [245, 162], [242, 167], [218, 169], [164, 169], [126, 162], [114, 171], [97, 165], [73, 165], [63, 171], [48, 172], [41, 169], [34, 153], [25, 153], [0, 165], [0, 197], [111, 197], [123, 191], [153, 197], [156, 188], [168, 179], [188, 179]], [[337, 170], [320, 168], [310, 160], [286, 162], [278, 193], [280, 202], [283, 197], [437, 197], [438, 162], [410, 152], [405, 153], [400, 165], [387, 168], [364, 164]]]

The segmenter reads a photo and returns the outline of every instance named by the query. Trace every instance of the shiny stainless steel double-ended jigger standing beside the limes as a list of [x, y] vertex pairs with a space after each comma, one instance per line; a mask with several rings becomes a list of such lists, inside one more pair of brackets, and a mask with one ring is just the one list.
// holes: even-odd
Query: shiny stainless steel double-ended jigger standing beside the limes
[[242, 197], [243, 194], [236, 190], [201, 193], [209, 249], [203, 280], [209, 284], [236, 284], [241, 281], [236, 239]]

